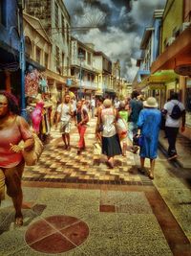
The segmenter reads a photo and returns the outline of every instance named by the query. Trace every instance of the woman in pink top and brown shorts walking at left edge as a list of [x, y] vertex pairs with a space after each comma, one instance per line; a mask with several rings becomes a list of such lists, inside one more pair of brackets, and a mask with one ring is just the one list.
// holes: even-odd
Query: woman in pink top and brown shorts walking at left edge
[[[0, 201], [5, 196], [6, 184], [15, 208], [15, 224], [22, 225], [21, 178], [25, 162], [21, 151], [32, 150], [33, 138], [28, 123], [18, 113], [15, 97], [9, 92], [0, 91]], [[25, 142], [23, 149], [18, 146], [21, 140]]]

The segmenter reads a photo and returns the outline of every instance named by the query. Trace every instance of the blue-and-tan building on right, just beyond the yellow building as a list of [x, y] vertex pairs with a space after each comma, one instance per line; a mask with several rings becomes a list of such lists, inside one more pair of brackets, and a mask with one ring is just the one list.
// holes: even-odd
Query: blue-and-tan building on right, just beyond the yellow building
[[138, 89], [146, 97], [157, 97], [160, 105], [165, 89], [164, 81], [159, 74], [151, 76], [150, 67], [159, 56], [162, 14], [163, 10], [155, 10], [152, 26], [144, 30], [140, 43], [141, 56], [137, 60], [138, 74], [133, 81], [134, 89]]

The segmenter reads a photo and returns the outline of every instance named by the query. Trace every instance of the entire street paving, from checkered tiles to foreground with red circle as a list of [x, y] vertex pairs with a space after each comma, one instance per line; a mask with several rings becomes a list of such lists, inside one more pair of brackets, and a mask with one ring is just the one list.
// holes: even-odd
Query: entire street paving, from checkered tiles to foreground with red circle
[[131, 151], [109, 169], [94, 151], [95, 126], [92, 118], [80, 155], [74, 125], [70, 150], [53, 128], [39, 162], [23, 174], [23, 226], [14, 227], [11, 198], [2, 201], [0, 255], [191, 255], [190, 183], [181, 176], [188, 169], [161, 151], [154, 180], [138, 173]]

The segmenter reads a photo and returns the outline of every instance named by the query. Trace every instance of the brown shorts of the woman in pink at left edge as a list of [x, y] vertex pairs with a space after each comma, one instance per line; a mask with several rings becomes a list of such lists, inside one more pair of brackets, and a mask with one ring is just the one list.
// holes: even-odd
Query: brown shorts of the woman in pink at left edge
[[5, 185], [7, 194], [11, 198], [19, 195], [21, 190], [21, 178], [23, 175], [25, 162], [22, 161], [17, 166], [11, 168], [0, 167], [0, 198], [5, 198]]

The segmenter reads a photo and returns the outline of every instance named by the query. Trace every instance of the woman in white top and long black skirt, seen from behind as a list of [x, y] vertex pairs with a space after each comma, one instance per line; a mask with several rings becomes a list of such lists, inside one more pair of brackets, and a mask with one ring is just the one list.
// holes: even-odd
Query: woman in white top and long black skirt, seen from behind
[[107, 155], [108, 165], [114, 168], [114, 156], [121, 154], [120, 142], [116, 130], [116, 110], [112, 107], [112, 102], [106, 99], [103, 102], [104, 108], [98, 112], [98, 124], [102, 124], [101, 134], [102, 153]]

